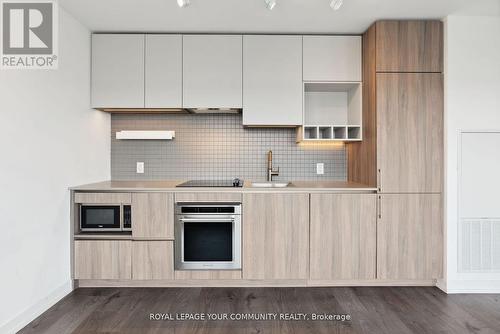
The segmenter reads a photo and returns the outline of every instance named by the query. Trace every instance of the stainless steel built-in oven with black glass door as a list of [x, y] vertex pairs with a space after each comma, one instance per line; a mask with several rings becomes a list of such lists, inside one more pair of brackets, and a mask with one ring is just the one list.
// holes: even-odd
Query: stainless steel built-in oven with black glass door
[[241, 204], [175, 208], [175, 269], [241, 269]]

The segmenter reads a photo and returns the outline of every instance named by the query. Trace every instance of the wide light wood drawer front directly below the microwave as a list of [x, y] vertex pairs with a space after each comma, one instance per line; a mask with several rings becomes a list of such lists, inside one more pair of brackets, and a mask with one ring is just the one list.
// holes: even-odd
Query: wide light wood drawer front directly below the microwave
[[75, 279], [131, 279], [131, 241], [76, 240]]

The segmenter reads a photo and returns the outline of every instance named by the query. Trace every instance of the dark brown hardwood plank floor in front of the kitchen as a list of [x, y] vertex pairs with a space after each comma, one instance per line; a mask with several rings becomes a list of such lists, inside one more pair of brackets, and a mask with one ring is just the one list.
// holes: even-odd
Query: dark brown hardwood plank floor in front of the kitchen
[[[307, 320], [150, 320], [150, 314], [305, 313]], [[313, 314], [350, 321], [313, 321]], [[500, 333], [500, 295], [437, 288], [77, 289], [20, 333]]]

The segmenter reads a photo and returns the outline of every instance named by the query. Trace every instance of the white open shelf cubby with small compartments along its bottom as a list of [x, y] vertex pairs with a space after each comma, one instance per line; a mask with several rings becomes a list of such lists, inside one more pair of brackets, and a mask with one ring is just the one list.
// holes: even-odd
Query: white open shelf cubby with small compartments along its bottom
[[297, 141], [362, 140], [361, 82], [304, 82], [304, 125]]

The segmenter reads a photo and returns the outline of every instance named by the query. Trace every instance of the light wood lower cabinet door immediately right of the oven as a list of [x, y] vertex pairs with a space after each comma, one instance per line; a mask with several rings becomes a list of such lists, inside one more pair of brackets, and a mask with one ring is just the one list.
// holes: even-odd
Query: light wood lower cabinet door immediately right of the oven
[[243, 278], [307, 279], [309, 194], [243, 195]]

